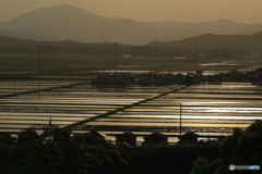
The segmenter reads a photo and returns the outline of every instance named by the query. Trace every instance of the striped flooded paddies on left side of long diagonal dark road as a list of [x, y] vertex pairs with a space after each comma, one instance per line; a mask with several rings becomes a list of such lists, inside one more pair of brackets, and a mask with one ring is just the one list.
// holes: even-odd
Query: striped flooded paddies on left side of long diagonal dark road
[[[0, 129], [12, 127], [14, 132], [26, 125], [52, 124], [66, 126], [92, 116], [115, 110], [119, 107], [152, 98], [171, 87], [110, 86], [97, 88], [78, 85], [31, 95], [0, 99]], [[35, 86], [37, 89], [37, 87]], [[118, 91], [120, 89], [120, 91]], [[152, 91], [152, 92], [151, 92]], [[20, 126], [23, 125], [23, 126]]]

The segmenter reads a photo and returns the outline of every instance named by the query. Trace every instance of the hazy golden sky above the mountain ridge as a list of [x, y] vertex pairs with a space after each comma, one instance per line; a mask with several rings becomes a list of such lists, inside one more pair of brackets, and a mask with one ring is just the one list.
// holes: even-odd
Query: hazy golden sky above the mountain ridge
[[0, 21], [40, 7], [69, 3], [104, 16], [136, 21], [262, 23], [262, 0], [0, 0]]

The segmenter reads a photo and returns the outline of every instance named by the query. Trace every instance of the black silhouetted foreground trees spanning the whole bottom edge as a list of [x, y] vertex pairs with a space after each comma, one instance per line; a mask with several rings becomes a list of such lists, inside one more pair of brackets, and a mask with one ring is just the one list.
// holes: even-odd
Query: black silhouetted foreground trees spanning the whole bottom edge
[[262, 121], [235, 128], [217, 146], [123, 148], [93, 134], [57, 126], [41, 134], [29, 127], [13, 137], [0, 135], [0, 173], [8, 174], [229, 174], [229, 165], [262, 166]]

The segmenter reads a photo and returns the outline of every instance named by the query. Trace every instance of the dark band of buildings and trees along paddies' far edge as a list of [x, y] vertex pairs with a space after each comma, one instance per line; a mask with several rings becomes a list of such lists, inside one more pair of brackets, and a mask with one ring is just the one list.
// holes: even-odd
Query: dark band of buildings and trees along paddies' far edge
[[262, 84], [262, 67], [251, 72], [228, 72], [214, 75], [202, 75], [202, 71], [195, 73], [172, 74], [172, 73], [100, 73], [92, 80], [95, 85], [108, 84], [139, 84], [139, 85], [193, 85], [205, 82], [212, 85], [221, 85], [222, 82], [249, 82], [253, 85]]

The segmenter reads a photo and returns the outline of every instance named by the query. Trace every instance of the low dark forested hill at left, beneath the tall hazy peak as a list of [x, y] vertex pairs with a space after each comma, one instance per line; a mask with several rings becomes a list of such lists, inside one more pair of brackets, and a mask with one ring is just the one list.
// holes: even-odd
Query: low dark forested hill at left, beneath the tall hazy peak
[[[115, 54], [115, 42], [83, 44], [73, 40], [64, 41], [34, 41], [28, 39], [11, 38], [0, 36], [0, 53], [38, 53], [41, 46], [41, 54], [87, 54], [87, 55], [112, 55]], [[118, 53], [129, 53], [134, 46], [117, 45]]]

